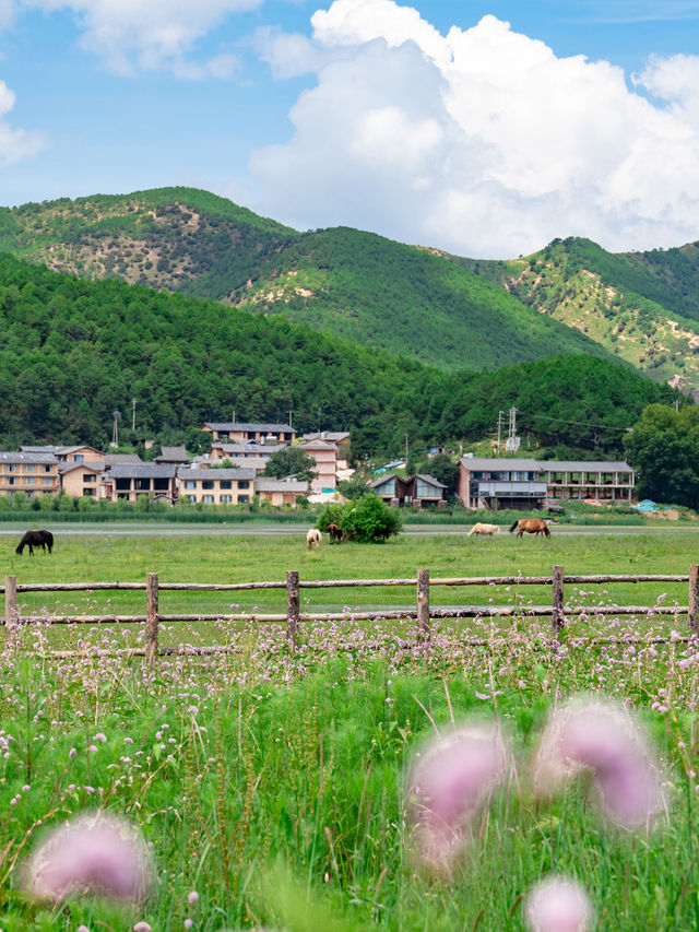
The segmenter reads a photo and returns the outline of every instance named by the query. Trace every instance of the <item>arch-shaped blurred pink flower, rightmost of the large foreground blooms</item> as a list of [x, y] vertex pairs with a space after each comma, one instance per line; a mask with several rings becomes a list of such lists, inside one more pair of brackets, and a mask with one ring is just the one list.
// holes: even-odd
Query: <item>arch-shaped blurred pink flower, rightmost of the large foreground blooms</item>
[[621, 706], [578, 700], [552, 716], [535, 762], [535, 792], [553, 795], [584, 769], [594, 777], [604, 813], [618, 825], [643, 827], [664, 805], [644, 734]]

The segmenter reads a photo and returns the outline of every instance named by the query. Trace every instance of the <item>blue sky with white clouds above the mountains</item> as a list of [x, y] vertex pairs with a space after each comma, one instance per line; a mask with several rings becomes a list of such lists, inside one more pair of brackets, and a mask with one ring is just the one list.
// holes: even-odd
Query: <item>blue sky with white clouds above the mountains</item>
[[0, 0], [0, 204], [187, 185], [476, 258], [699, 239], [699, 0]]

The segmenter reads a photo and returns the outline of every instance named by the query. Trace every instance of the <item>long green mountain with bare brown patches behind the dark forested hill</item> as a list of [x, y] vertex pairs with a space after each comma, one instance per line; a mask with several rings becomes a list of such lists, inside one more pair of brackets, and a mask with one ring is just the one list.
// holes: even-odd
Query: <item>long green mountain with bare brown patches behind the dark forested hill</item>
[[0, 210], [0, 250], [86, 279], [213, 298], [447, 369], [607, 351], [427, 250], [296, 233], [191, 188]]

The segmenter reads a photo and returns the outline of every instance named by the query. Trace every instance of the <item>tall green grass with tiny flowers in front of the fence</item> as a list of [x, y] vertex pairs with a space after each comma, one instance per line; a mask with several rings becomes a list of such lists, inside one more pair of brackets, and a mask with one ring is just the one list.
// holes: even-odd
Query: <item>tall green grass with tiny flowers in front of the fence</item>
[[[550, 872], [585, 886], [599, 932], [699, 928], [697, 677], [678, 672], [674, 645], [659, 658], [619, 647], [554, 659], [526, 638], [497, 653], [453, 641], [376, 660], [359, 648], [328, 658], [332, 638], [315, 658], [289, 654], [283, 638], [250, 633], [248, 644], [247, 657], [161, 662], [153, 674], [118, 660], [2, 656], [0, 729], [12, 740], [0, 757], [0, 928], [117, 932], [147, 921], [171, 932], [191, 917], [202, 932], [501, 932], [523, 928], [522, 897]], [[484, 701], [489, 683], [497, 695]], [[651, 708], [661, 689], [664, 715]], [[546, 712], [557, 694], [582, 691], [641, 710], [670, 797], [670, 817], [648, 838], [605, 828], [584, 781], [550, 805], [532, 795]], [[430, 719], [447, 728], [450, 709], [507, 723], [517, 778], [478, 818], [453, 876], [440, 878], [406, 843], [403, 788]], [[151, 898], [133, 910], [24, 899], [17, 881], [42, 837], [37, 821], [97, 804], [133, 819], [152, 845]]]

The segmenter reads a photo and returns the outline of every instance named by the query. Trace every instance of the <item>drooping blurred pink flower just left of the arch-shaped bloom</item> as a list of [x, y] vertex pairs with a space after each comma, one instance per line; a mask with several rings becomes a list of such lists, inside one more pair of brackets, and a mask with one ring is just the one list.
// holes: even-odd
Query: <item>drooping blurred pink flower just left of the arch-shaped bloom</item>
[[502, 735], [462, 725], [429, 744], [413, 765], [407, 799], [419, 856], [448, 870], [469, 841], [475, 813], [505, 778]]

